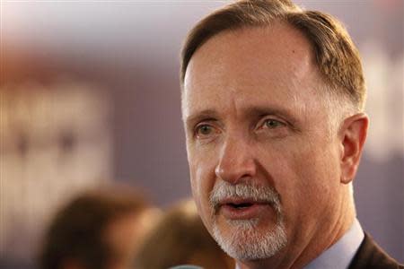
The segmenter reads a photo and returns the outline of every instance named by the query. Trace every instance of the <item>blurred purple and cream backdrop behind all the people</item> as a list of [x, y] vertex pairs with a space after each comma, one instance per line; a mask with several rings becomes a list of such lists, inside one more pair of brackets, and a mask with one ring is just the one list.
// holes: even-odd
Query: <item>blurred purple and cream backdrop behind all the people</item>
[[[345, 22], [363, 56], [357, 212], [403, 263], [404, 1], [296, 2]], [[189, 196], [179, 51], [226, 1], [0, 3], [0, 266], [32, 268], [49, 217], [83, 188], [125, 183], [162, 207]]]

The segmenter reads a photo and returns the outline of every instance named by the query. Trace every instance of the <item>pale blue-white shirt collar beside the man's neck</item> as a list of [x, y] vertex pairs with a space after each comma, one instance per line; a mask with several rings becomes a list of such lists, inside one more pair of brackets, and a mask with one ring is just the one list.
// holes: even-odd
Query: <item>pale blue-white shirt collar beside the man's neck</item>
[[351, 228], [341, 239], [312, 260], [304, 269], [347, 269], [363, 240], [364, 230], [355, 219]]

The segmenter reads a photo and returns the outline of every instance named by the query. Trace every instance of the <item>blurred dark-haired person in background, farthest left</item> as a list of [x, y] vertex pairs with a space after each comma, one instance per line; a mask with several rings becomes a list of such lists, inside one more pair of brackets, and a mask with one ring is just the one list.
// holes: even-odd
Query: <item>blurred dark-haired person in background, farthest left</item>
[[40, 249], [40, 269], [127, 269], [160, 212], [127, 187], [84, 192], [57, 212]]

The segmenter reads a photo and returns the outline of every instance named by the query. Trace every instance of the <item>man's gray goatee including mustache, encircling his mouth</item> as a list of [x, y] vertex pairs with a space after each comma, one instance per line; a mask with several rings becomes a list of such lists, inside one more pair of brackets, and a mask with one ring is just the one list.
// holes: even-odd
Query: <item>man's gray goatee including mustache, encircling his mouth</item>
[[[254, 197], [257, 200], [268, 201], [277, 213], [275, 227], [265, 229], [260, 227], [259, 218], [251, 220], [226, 220], [229, 229], [221, 229], [217, 223], [217, 204], [221, 198]], [[212, 217], [213, 237], [229, 256], [241, 261], [265, 259], [276, 255], [285, 247], [287, 237], [281, 212], [279, 195], [271, 187], [257, 187], [248, 184], [231, 185], [219, 181], [210, 196], [214, 209]]]

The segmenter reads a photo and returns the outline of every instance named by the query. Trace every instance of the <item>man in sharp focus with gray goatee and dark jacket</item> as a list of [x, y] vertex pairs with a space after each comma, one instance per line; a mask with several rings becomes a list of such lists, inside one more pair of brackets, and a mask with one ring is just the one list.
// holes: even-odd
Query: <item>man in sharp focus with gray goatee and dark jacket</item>
[[399, 268], [356, 220], [368, 117], [340, 22], [240, 1], [198, 22], [181, 61], [192, 192], [239, 268]]

